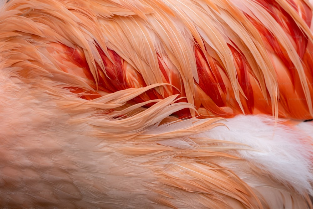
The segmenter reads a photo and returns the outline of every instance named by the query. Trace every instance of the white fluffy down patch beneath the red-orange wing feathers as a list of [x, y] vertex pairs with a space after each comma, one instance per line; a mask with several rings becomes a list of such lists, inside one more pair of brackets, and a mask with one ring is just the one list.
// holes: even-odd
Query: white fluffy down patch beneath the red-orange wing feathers
[[[310, 156], [313, 123], [302, 122], [297, 126], [289, 126], [281, 122], [275, 126], [273, 118], [268, 116], [241, 115], [225, 122], [229, 129], [219, 126], [198, 136], [249, 145], [251, 150], [239, 150], [240, 157], [277, 180], [292, 185], [299, 193], [306, 190], [312, 194]], [[240, 174], [240, 168], [237, 170]]]

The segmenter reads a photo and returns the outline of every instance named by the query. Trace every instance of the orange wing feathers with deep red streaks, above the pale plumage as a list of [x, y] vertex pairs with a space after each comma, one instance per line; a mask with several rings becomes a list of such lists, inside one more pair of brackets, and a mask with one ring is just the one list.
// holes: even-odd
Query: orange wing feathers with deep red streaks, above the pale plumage
[[[3, 24], [28, 34], [50, 62], [53, 55], [54, 70], [82, 77], [94, 89], [88, 98], [169, 83], [132, 102], [181, 94], [198, 113], [180, 111], [180, 118], [304, 120], [313, 110], [311, 8], [269, 0], [13, 1]], [[20, 42], [17, 34], [10, 41]]]

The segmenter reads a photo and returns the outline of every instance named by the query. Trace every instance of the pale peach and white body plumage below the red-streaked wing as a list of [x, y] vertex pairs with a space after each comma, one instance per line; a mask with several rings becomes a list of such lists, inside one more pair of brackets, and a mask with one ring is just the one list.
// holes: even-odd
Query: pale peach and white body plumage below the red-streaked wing
[[[240, 116], [225, 122], [228, 130], [220, 118], [169, 116], [191, 107], [175, 97], [148, 109], [121, 106], [127, 90], [84, 101], [3, 70], [2, 206], [310, 206], [312, 139], [301, 128], [312, 123], [291, 131], [267, 116]], [[112, 106], [121, 111], [104, 114]], [[121, 112], [128, 117], [114, 119]]]

